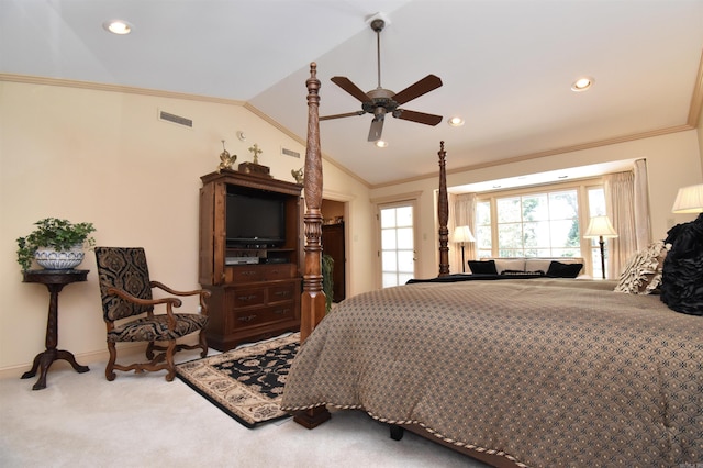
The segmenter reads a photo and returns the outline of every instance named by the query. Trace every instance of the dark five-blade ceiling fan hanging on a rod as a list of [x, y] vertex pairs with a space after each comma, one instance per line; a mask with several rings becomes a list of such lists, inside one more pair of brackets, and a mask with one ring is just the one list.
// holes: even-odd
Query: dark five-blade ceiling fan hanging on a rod
[[386, 22], [383, 20], [376, 19], [371, 21], [371, 29], [376, 32], [377, 40], [378, 87], [369, 92], [364, 92], [347, 77], [332, 77], [332, 82], [361, 101], [361, 110], [320, 118], [322, 121], [353, 115], [364, 115], [366, 113], [372, 114], [373, 120], [371, 121], [371, 127], [369, 130], [369, 142], [376, 142], [381, 138], [383, 121], [386, 120], [387, 114], [391, 114], [395, 119], [424, 123], [425, 125], [437, 125], [442, 122], [442, 115], [426, 114], [424, 112], [415, 112], [399, 108], [399, 105], [402, 105], [408, 101], [439, 88], [442, 86], [442, 79], [439, 79], [439, 77], [435, 75], [427, 75], [420, 81], [409, 86], [398, 93], [381, 87], [381, 31], [383, 31], [383, 26], [386, 26]]

